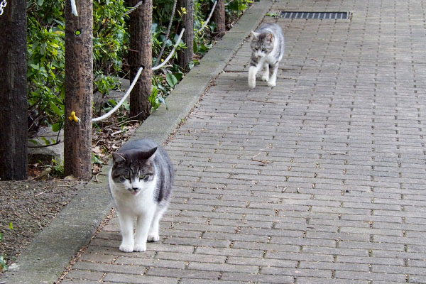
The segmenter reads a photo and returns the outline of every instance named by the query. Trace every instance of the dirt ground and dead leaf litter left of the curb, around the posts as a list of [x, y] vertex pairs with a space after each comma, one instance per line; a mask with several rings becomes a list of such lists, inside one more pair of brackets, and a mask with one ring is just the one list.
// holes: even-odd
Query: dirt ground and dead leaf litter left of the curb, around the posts
[[[99, 163], [92, 165], [93, 175], [107, 164], [109, 153], [121, 148], [140, 125], [138, 121], [119, 123], [118, 120], [119, 116], [113, 116], [93, 130], [92, 154], [99, 159]], [[84, 186], [85, 182], [78, 180], [52, 178], [55, 175], [35, 180], [43, 179], [45, 168], [45, 165], [28, 165], [28, 180], [0, 181], [0, 233], [4, 236], [3, 241], [0, 238], [0, 258], [6, 258], [7, 266], [16, 261], [33, 237]]]

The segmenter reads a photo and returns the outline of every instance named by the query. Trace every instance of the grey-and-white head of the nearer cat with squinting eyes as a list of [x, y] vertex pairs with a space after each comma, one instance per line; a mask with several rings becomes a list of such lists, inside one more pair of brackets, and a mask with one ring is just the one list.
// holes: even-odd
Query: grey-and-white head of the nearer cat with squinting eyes
[[132, 195], [153, 188], [155, 150], [113, 153], [111, 177], [116, 186]]

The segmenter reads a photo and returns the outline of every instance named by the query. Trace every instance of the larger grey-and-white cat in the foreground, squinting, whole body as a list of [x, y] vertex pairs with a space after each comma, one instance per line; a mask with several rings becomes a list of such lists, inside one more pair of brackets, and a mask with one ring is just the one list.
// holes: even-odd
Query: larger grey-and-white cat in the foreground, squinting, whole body
[[146, 251], [147, 240], [160, 239], [158, 223], [172, 192], [172, 162], [164, 149], [149, 139], [129, 141], [112, 158], [109, 190], [119, 216], [122, 236], [119, 249]]

